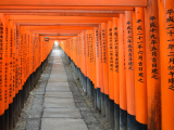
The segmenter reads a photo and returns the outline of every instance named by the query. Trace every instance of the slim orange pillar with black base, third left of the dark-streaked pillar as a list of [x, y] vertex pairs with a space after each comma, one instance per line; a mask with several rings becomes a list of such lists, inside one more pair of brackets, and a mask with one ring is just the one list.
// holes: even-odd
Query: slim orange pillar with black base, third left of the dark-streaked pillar
[[119, 87], [120, 87], [120, 130], [127, 129], [126, 66], [124, 41], [124, 14], [119, 22]]

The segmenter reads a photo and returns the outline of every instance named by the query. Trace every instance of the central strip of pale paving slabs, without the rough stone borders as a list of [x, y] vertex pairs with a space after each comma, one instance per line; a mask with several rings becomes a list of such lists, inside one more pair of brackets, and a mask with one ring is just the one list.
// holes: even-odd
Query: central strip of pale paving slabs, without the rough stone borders
[[53, 63], [44, 95], [41, 130], [88, 130], [76, 108], [62, 63], [61, 51], [53, 50]]

